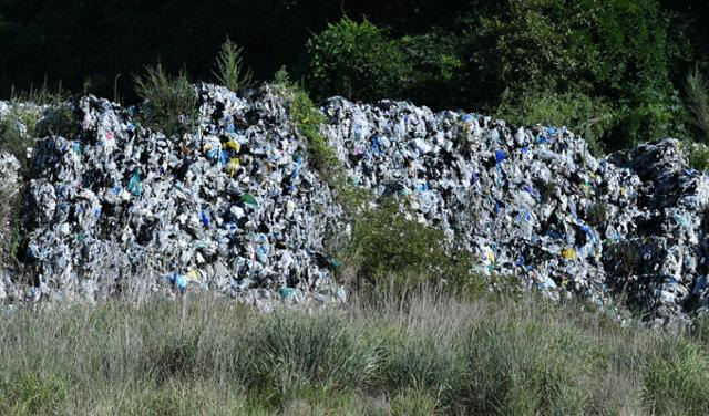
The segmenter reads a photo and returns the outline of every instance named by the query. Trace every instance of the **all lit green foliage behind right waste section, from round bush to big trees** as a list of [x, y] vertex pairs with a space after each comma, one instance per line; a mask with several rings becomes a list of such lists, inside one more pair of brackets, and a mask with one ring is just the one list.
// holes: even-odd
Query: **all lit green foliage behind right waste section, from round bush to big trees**
[[[669, 35], [685, 28], [677, 18], [645, 0], [473, 1], [448, 30], [403, 37], [345, 18], [310, 38], [302, 74], [319, 98], [403, 97], [566, 125], [600, 154], [690, 136], [671, 82], [692, 59], [682, 34]], [[690, 74], [695, 113], [700, 84]]]

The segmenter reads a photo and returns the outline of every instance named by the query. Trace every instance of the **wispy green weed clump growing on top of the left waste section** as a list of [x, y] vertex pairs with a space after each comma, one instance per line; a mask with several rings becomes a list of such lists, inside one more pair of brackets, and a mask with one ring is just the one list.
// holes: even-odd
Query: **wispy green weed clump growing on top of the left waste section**
[[[197, 95], [184, 70], [176, 76], [165, 73], [163, 66], [146, 66], [144, 76], [135, 76], [135, 92], [145, 101], [142, 108], [144, 122], [166, 135], [195, 116]], [[184, 117], [184, 119], [181, 119]]]

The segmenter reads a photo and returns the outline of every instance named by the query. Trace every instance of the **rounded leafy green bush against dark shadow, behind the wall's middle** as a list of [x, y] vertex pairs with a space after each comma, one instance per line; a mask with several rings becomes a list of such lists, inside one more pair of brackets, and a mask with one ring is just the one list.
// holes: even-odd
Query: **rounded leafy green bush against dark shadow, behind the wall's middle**
[[339, 94], [351, 100], [401, 97], [411, 76], [402, 50], [368, 20], [343, 18], [307, 42], [306, 85], [317, 98]]

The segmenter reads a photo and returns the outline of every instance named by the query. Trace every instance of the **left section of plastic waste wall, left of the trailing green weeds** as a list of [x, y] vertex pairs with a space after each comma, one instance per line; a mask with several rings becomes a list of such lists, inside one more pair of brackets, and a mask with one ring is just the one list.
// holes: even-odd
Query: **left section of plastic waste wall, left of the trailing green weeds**
[[75, 137], [38, 141], [24, 259], [35, 284], [9, 301], [188, 287], [254, 301], [271, 297], [264, 288], [330, 294], [322, 236], [340, 211], [284, 101], [207, 85], [198, 95], [196, 123], [171, 137], [86, 96]]

